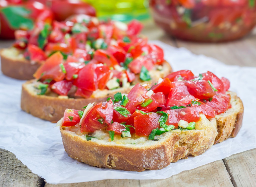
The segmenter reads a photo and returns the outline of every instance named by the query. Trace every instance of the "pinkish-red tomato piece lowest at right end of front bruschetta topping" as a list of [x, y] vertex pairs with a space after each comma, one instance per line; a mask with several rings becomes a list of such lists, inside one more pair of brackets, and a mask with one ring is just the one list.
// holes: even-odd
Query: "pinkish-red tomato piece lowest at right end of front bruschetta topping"
[[221, 114], [231, 107], [230, 99], [231, 97], [229, 94], [225, 95], [219, 93], [218, 95], [213, 96], [211, 101], [207, 101], [206, 104], [212, 107], [216, 114]]

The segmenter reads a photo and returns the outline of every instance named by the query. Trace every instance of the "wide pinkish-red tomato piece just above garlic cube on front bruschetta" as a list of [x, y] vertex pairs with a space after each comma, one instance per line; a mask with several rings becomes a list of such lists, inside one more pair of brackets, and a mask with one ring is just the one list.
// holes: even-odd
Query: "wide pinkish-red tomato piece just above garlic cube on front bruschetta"
[[168, 113], [168, 125], [178, 126], [180, 120], [190, 122], [200, 121], [199, 109], [197, 107], [186, 107], [181, 109], [165, 110]]

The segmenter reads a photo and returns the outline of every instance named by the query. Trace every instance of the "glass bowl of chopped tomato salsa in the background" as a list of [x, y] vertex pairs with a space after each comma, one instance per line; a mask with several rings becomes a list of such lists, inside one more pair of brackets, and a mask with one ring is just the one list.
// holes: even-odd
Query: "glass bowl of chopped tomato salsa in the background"
[[150, 0], [149, 3], [156, 24], [183, 40], [236, 40], [256, 25], [255, 0]]

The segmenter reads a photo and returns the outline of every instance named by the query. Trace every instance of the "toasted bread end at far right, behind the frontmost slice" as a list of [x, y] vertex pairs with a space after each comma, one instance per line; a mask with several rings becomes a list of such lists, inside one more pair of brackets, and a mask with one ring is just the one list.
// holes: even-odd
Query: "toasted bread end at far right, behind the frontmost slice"
[[231, 96], [231, 106], [226, 112], [216, 115], [218, 135], [215, 138], [215, 144], [223, 142], [229, 137], [235, 137], [242, 126], [243, 103], [237, 94], [228, 91]]

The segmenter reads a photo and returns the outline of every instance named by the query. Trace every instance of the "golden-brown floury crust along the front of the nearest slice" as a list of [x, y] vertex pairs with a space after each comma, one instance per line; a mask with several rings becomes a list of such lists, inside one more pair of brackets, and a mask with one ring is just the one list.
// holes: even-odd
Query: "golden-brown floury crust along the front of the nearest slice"
[[62, 127], [60, 133], [64, 148], [71, 158], [99, 168], [139, 172], [168, 166], [173, 158], [174, 144], [179, 139], [177, 133], [168, 133], [163, 141], [154, 144], [127, 146], [96, 138], [87, 141]]

